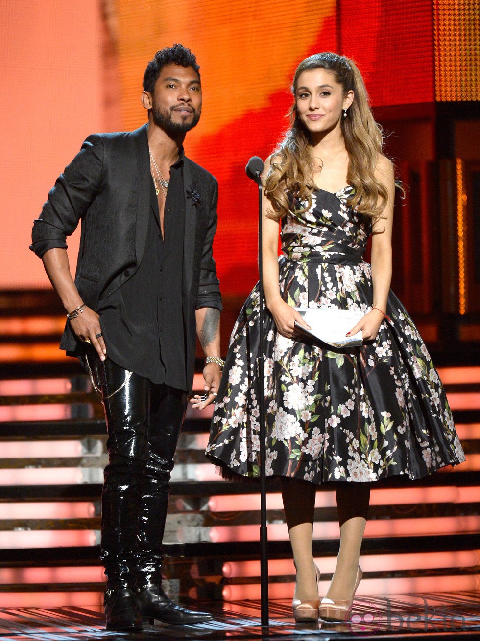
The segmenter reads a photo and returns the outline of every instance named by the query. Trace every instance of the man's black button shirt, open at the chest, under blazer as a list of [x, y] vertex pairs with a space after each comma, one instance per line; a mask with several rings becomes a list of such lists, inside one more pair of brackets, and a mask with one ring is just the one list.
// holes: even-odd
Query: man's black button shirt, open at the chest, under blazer
[[141, 263], [99, 310], [107, 356], [124, 369], [187, 391], [182, 277], [185, 231], [184, 151], [170, 168], [160, 230], [151, 181], [148, 233]]

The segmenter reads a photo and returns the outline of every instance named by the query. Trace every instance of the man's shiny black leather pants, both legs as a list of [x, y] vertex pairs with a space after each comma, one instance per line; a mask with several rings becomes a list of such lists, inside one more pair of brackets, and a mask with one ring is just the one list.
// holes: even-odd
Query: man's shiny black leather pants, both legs
[[90, 359], [90, 365], [108, 432], [101, 499], [107, 590], [160, 583], [170, 472], [187, 394], [154, 385], [108, 358]]

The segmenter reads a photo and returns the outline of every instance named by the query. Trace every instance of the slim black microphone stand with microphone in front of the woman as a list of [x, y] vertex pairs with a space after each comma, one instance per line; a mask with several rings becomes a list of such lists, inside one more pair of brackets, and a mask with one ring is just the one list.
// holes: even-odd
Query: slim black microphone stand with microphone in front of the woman
[[264, 338], [264, 296], [262, 259], [262, 181], [263, 161], [253, 156], [245, 171], [259, 189], [259, 423], [260, 423], [260, 599], [261, 624], [268, 627], [268, 531], [266, 510], [266, 424], [265, 424], [265, 338]]

